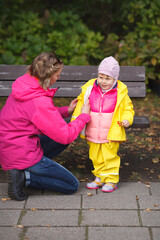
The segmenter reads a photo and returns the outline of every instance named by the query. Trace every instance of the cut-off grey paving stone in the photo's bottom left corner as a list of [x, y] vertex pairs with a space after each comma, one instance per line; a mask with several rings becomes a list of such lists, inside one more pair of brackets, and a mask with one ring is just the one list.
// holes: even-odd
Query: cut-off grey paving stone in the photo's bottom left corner
[[0, 227], [0, 239], [1, 240], [20, 240], [22, 234], [21, 228], [14, 227]]

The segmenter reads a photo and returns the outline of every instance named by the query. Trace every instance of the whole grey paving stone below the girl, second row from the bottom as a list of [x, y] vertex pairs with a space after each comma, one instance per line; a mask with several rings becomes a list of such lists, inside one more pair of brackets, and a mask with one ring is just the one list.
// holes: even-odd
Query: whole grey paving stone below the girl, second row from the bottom
[[82, 226], [139, 226], [135, 210], [83, 210]]

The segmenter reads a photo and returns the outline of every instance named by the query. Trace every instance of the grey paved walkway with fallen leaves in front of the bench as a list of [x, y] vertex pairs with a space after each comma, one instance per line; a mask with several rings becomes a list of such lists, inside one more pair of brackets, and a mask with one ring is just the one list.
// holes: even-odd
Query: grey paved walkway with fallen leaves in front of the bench
[[7, 200], [0, 183], [1, 240], [160, 239], [160, 183], [122, 182], [113, 193], [84, 183], [74, 195], [29, 191], [26, 201]]

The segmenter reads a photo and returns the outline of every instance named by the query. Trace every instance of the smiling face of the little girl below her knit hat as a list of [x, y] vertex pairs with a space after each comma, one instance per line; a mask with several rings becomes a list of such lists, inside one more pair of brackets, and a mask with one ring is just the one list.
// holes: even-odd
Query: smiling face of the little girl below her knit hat
[[102, 90], [109, 90], [113, 86], [115, 79], [109, 77], [108, 75], [99, 73], [97, 81]]

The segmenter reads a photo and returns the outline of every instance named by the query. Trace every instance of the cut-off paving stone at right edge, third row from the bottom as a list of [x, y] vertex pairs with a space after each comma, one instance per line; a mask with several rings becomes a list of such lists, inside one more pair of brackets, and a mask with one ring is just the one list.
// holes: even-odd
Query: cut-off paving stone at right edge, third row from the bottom
[[140, 209], [160, 210], [160, 196], [139, 196]]

